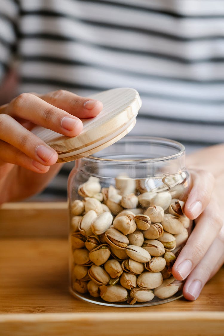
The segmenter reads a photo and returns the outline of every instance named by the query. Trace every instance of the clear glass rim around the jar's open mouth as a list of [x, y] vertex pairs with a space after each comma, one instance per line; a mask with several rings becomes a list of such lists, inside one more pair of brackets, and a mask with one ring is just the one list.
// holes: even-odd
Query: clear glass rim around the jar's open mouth
[[[157, 144], [157, 145], [167, 145], [169, 148], [173, 148], [177, 150], [177, 153], [169, 155], [169, 156], [164, 156], [164, 157], [157, 157], [157, 158], [148, 158], [148, 159], [108, 159], [108, 158], [101, 158], [101, 157], [95, 157], [93, 155], [88, 156], [83, 158], [83, 160], [91, 161], [91, 162], [103, 162], [103, 163], [116, 163], [116, 164], [142, 164], [142, 163], [152, 163], [152, 162], [159, 162], [159, 161], [166, 161], [166, 160], [171, 160], [178, 158], [182, 155], [185, 154], [185, 146], [172, 139], [168, 138], [163, 138], [163, 137], [154, 137], [154, 136], [130, 136], [127, 135], [124, 138], [120, 139], [118, 142], [119, 143], [124, 143], [124, 142], [132, 142], [134, 141], [135, 143], [137, 142], [145, 142], [145, 143], [151, 143], [151, 144]], [[116, 142], [115, 142], [116, 143]], [[115, 144], [114, 143], [114, 144]], [[113, 145], [113, 144], [112, 144]]]

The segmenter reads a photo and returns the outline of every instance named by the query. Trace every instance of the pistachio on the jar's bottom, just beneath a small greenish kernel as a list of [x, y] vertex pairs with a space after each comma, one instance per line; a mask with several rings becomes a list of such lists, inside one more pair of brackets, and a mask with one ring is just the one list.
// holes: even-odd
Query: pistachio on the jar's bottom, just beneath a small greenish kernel
[[120, 286], [100, 286], [100, 297], [107, 302], [122, 302], [127, 301], [128, 292], [127, 290]]

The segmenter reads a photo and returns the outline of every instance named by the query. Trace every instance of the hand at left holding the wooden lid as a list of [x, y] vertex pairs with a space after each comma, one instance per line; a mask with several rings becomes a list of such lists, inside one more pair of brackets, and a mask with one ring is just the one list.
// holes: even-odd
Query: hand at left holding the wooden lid
[[60, 169], [54, 165], [57, 152], [31, 132], [35, 125], [76, 136], [82, 130], [79, 118], [95, 117], [101, 110], [101, 102], [65, 90], [23, 93], [1, 106], [0, 203], [40, 191]]

